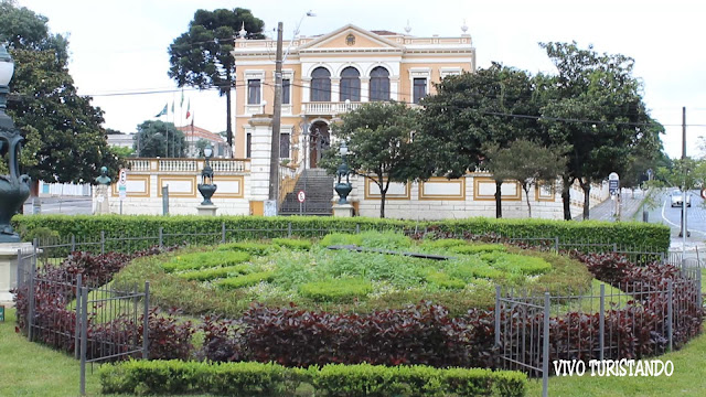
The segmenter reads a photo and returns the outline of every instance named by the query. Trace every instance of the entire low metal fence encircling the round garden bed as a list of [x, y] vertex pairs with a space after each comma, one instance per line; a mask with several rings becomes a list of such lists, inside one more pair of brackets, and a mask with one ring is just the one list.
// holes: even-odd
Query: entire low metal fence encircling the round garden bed
[[[381, 225], [381, 232], [402, 232], [416, 237], [425, 237], [427, 229]], [[73, 251], [90, 251], [105, 254], [118, 251], [132, 254], [141, 249], [158, 245], [204, 245], [224, 244], [233, 240], [261, 239], [277, 237], [322, 237], [330, 233], [361, 233], [360, 225], [349, 227], [298, 227], [296, 223], [282, 224], [275, 228], [239, 228], [229, 229], [225, 223], [214, 227], [210, 233], [167, 233], [159, 228], [157, 234], [125, 235], [120, 233], [99, 232], [93, 238], [67, 236], [63, 238], [44, 238], [34, 242], [31, 251], [19, 251], [20, 286], [26, 286], [30, 293], [28, 308], [18, 308], [18, 314], [28, 311], [28, 336], [32, 341], [64, 341], [72, 346], [74, 354], [82, 357], [82, 385], [85, 375], [85, 364], [106, 360], [117, 360], [122, 356], [147, 357], [148, 335], [141, 337], [142, 344], [137, 343], [138, 330], [147, 332], [148, 326], [140, 326], [138, 319], [147, 321], [149, 308], [149, 285], [145, 292], [138, 292], [137, 286], [131, 291], [116, 291], [107, 287], [100, 288], [108, 280], [46, 279], [47, 270], [58, 265]], [[688, 311], [694, 307], [702, 308], [700, 261], [682, 258], [681, 254], [655, 251], [650, 247], [623, 247], [613, 243], [590, 239], [561, 239], [559, 237], [527, 237], [527, 236], [485, 236], [490, 242], [509, 242], [521, 246], [538, 247], [541, 249], [566, 251], [599, 251], [618, 253], [638, 264], [661, 262], [680, 266], [682, 278], [675, 283], [668, 283], [663, 289], [650, 289], [641, 283], [616, 286], [601, 285], [599, 290], [568, 291], [563, 294], [546, 292], [541, 296], [526, 291], [496, 290], [495, 299], [495, 345], [498, 348], [499, 366], [507, 369], [520, 369], [531, 376], [542, 376], [546, 395], [547, 382], [550, 373], [550, 360], [609, 360], [622, 357], [625, 352], [620, 321], [629, 318], [630, 324], [640, 328], [641, 332], [652, 335], [659, 341], [650, 352], [639, 354], [656, 355], [672, 350], [684, 342], [680, 329], [689, 321]], [[82, 285], [83, 281], [83, 285]], [[20, 288], [20, 293], [22, 288]], [[47, 292], [49, 291], [49, 292]], [[56, 329], [49, 329], [39, 321], [41, 315], [34, 308], [34, 293], [54, 293], [63, 297], [63, 304], [68, 313], [66, 321], [56, 322]], [[651, 322], [644, 311], [624, 310], [627, 308], [645, 308], [650, 297], [662, 297], [668, 302], [664, 308], [652, 308], [657, 318], [663, 321]], [[75, 303], [72, 301], [75, 300]], [[630, 302], [630, 303], [629, 303]], [[663, 309], [663, 310], [662, 310]], [[115, 321], [115, 319], [122, 319]], [[45, 319], [46, 320], [46, 319]], [[129, 320], [129, 321], [128, 321]], [[557, 326], [569, 322], [574, 328], [568, 331]], [[131, 331], [120, 331], [118, 323], [129, 324]], [[103, 343], [93, 337], [94, 329], [104, 325], [104, 332], [129, 335], [118, 342]], [[107, 325], [106, 325], [107, 324]], [[118, 332], [120, 331], [120, 332]], [[588, 334], [581, 334], [588, 333]], [[58, 342], [54, 342], [55, 344]], [[61, 343], [60, 343], [61, 344]], [[637, 354], [634, 352], [628, 352]], [[85, 354], [85, 356], [84, 356]], [[83, 391], [83, 389], [82, 389]]]

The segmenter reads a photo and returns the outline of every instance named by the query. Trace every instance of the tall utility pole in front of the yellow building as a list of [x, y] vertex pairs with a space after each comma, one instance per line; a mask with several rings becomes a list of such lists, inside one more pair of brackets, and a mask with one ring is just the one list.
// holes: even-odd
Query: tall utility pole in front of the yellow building
[[279, 193], [279, 129], [282, 115], [282, 23], [277, 23], [277, 58], [275, 61], [275, 104], [272, 109], [272, 142], [269, 158], [269, 195], [270, 204], [277, 215], [277, 195]]

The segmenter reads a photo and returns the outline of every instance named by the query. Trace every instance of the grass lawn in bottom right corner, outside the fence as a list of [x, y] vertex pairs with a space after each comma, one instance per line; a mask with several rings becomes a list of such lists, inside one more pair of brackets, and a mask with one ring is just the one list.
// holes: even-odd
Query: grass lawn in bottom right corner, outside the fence
[[[691, 341], [686, 347], [661, 357], [671, 360], [674, 374], [671, 377], [591, 377], [549, 378], [549, 396], [603, 397], [603, 396], [704, 396], [706, 395], [706, 334]], [[552, 364], [549, 364], [552, 365]], [[532, 380], [527, 396], [542, 396], [542, 380]]]

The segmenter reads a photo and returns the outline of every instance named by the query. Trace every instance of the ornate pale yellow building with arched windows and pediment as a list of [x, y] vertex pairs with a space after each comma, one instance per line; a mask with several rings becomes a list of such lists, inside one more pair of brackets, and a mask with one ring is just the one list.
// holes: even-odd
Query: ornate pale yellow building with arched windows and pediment
[[[236, 158], [252, 157], [253, 116], [272, 114], [276, 45], [269, 39], [235, 41]], [[418, 103], [434, 93], [432, 83], [475, 67], [470, 34], [415, 37], [347, 24], [324, 35], [286, 41], [284, 46], [280, 158], [300, 164], [301, 131], [309, 126], [311, 168], [330, 142], [332, 117], [372, 100]]]

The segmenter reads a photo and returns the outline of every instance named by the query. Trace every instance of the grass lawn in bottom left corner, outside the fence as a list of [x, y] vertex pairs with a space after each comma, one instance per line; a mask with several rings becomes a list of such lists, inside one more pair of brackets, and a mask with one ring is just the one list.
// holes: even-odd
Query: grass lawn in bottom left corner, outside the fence
[[[95, 368], [97, 369], [97, 367]], [[14, 309], [0, 323], [0, 396], [78, 396], [78, 361], [14, 332]], [[86, 394], [99, 395], [97, 371], [86, 372]]]

